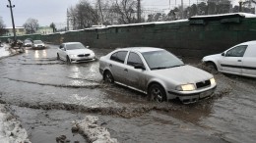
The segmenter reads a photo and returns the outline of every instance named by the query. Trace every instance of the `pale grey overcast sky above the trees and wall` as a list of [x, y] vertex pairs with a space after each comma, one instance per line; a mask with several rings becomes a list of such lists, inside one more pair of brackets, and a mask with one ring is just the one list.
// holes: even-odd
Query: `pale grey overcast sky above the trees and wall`
[[[67, 8], [75, 6], [80, 0], [11, 0], [15, 25], [22, 26], [29, 19], [38, 20], [41, 26], [51, 23], [65, 26]], [[96, 0], [89, 0], [94, 3]], [[142, 0], [142, 7], [145, 9], [163, 9], [173, 8], [180, 5], [181, 0]], [[183, 0], [184, 5], [193, 4], [201, 0]], [[238, 0], [232, 0], [233, 4], [238, 5]], [[189, 3], [190, 2], [190, 3]], [[176, 5], [175, 5], [176, 4]], [[2, 17], [6, 26], [12, 26], [10, 9], [8, 0], [1, 0], [0, 17]]]

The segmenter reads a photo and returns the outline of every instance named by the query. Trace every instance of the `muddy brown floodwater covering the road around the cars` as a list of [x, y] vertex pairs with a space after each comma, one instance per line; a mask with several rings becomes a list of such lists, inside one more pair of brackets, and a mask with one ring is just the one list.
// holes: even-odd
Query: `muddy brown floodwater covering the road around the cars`
[[[150, 102], [146, 95], [102, 82], [98, 61], [67, 65], [56, 58], [57, 46], [0, 60], [0, 102], [21, 120], [33, 143], [88, 142], [72, 133], [74, 120], [99, 118], [121, 143], [254, 143], [256, 80], [215, 74], [211, 99], [182, 105]], [[92, 49], [99, 58], [113, 49]], [[203, 68], [198, 60], [186, 64]]]

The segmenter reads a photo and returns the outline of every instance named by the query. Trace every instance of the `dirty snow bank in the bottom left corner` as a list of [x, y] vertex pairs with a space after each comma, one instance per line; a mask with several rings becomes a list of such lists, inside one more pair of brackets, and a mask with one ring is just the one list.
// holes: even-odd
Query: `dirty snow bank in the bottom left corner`
[[27, 131], [21, 126], [21, 122], [8, 113], [4, 105], [0, 104], [0, 142], [31, 143]]

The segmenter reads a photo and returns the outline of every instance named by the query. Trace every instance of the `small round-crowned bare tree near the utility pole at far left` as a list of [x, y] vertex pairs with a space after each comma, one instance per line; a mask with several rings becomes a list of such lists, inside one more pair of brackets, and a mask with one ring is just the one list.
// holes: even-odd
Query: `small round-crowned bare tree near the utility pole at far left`
[[23, 24], [23, 26], [25, 27], [27, 33], [34, 33], [36, 29], [38, 29], [39, 24], [37, 20], [30, 18], [25, 24]]

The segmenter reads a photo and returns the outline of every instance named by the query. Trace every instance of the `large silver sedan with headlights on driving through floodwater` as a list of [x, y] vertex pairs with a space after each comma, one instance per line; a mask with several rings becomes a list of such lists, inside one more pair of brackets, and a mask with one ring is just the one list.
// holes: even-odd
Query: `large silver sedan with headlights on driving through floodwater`
[[157, 102], [179, 99], [194, 103], [213, 96], [217, 86], [213, 74], [154, 47], [114, 50], [100, 57], [99, 72], [104, 81], [141, 91]]

